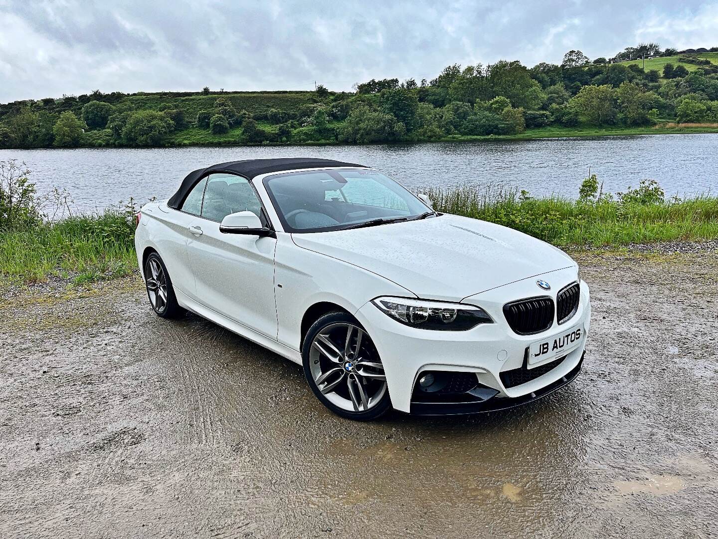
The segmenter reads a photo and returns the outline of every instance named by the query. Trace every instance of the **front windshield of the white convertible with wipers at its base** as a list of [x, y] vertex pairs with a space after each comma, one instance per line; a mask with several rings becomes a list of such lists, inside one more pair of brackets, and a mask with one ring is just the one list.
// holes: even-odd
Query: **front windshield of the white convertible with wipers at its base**
[[431, 211], [376, 170], [312, 170], [264, 178], [287, 232], [350, 229], [406, 220]]

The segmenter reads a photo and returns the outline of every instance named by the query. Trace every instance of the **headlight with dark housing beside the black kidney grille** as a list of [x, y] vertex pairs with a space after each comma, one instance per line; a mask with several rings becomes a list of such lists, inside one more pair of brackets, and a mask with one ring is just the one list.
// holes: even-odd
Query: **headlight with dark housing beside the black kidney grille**
[[391, 318], [413, 328], [465, 331], [493, 322], [482, 308], [475, 305], [388, 297], [376, 298], [373, 303]]

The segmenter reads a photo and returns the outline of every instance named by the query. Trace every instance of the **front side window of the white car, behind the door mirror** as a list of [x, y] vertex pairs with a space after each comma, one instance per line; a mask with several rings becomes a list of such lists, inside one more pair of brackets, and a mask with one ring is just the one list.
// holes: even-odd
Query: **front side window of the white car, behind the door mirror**
[[202, 204], [202, 217], [212, 221], [222, 221], [230, 213], [251, 211], [258, 218], [264, 217], [261, 203], [248, 180], [233, 174], [210, 174], [208, 176], [205, 202]]

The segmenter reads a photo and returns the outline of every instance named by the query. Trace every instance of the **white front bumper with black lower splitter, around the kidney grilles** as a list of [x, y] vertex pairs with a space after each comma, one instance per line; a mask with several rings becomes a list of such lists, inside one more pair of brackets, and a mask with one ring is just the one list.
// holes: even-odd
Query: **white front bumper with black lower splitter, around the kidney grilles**
[[[556, 292], [575, 280], [575, 270], [559, 270], [531, 279], [498, 287], [466, 298], [463, 303], [478, 305], [494, 320], [469, 331], [431, 331], [411, 328], [394, 321], [373, 303], [360, 308], [356, 317], [368, 331], [381, 356], [391, 402], [396, 410], [420, 415], [479, 413], [501, 410], [531, 402], [571, 382], [582, 366], [587, 333], [590, 327], [589, 289], [581, 282], [579, 308], [572, 318], [559, 326], [535, 335], [514, 333], [503, 315], [503, 305], [529, 298], [537, 293], [536, 279], [551, 282], [548, 294], [556, 300]], [[527, 377], [528, 381], [507, 387], [502, 382], [506, 372], [526, 367], [528, 346], [539, 340], [559, 336], [569, 328], [582, 328], [582, 336], [574, 349], [555, 361], [544, 374]], [[550, 364], [552, 361], [546, 361]], [[532, 369], [533, 367], [531, 367]], [[544, 369], [546, 370], [546, 369]], [[424, 402], [417, 397], [417, 380], [425, 372], [469, 373], [475, 376], [480, 391], [473, 402]], [[466, 399], [463, 399], [465, 401]]]

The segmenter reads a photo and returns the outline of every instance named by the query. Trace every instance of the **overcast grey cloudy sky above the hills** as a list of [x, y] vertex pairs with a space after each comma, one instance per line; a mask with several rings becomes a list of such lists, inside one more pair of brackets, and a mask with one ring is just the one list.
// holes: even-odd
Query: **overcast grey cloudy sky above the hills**
[[718, 0], [0, 0], [0, 102], [123, 91], [350, 90], [451, 63], [718, 46]]

